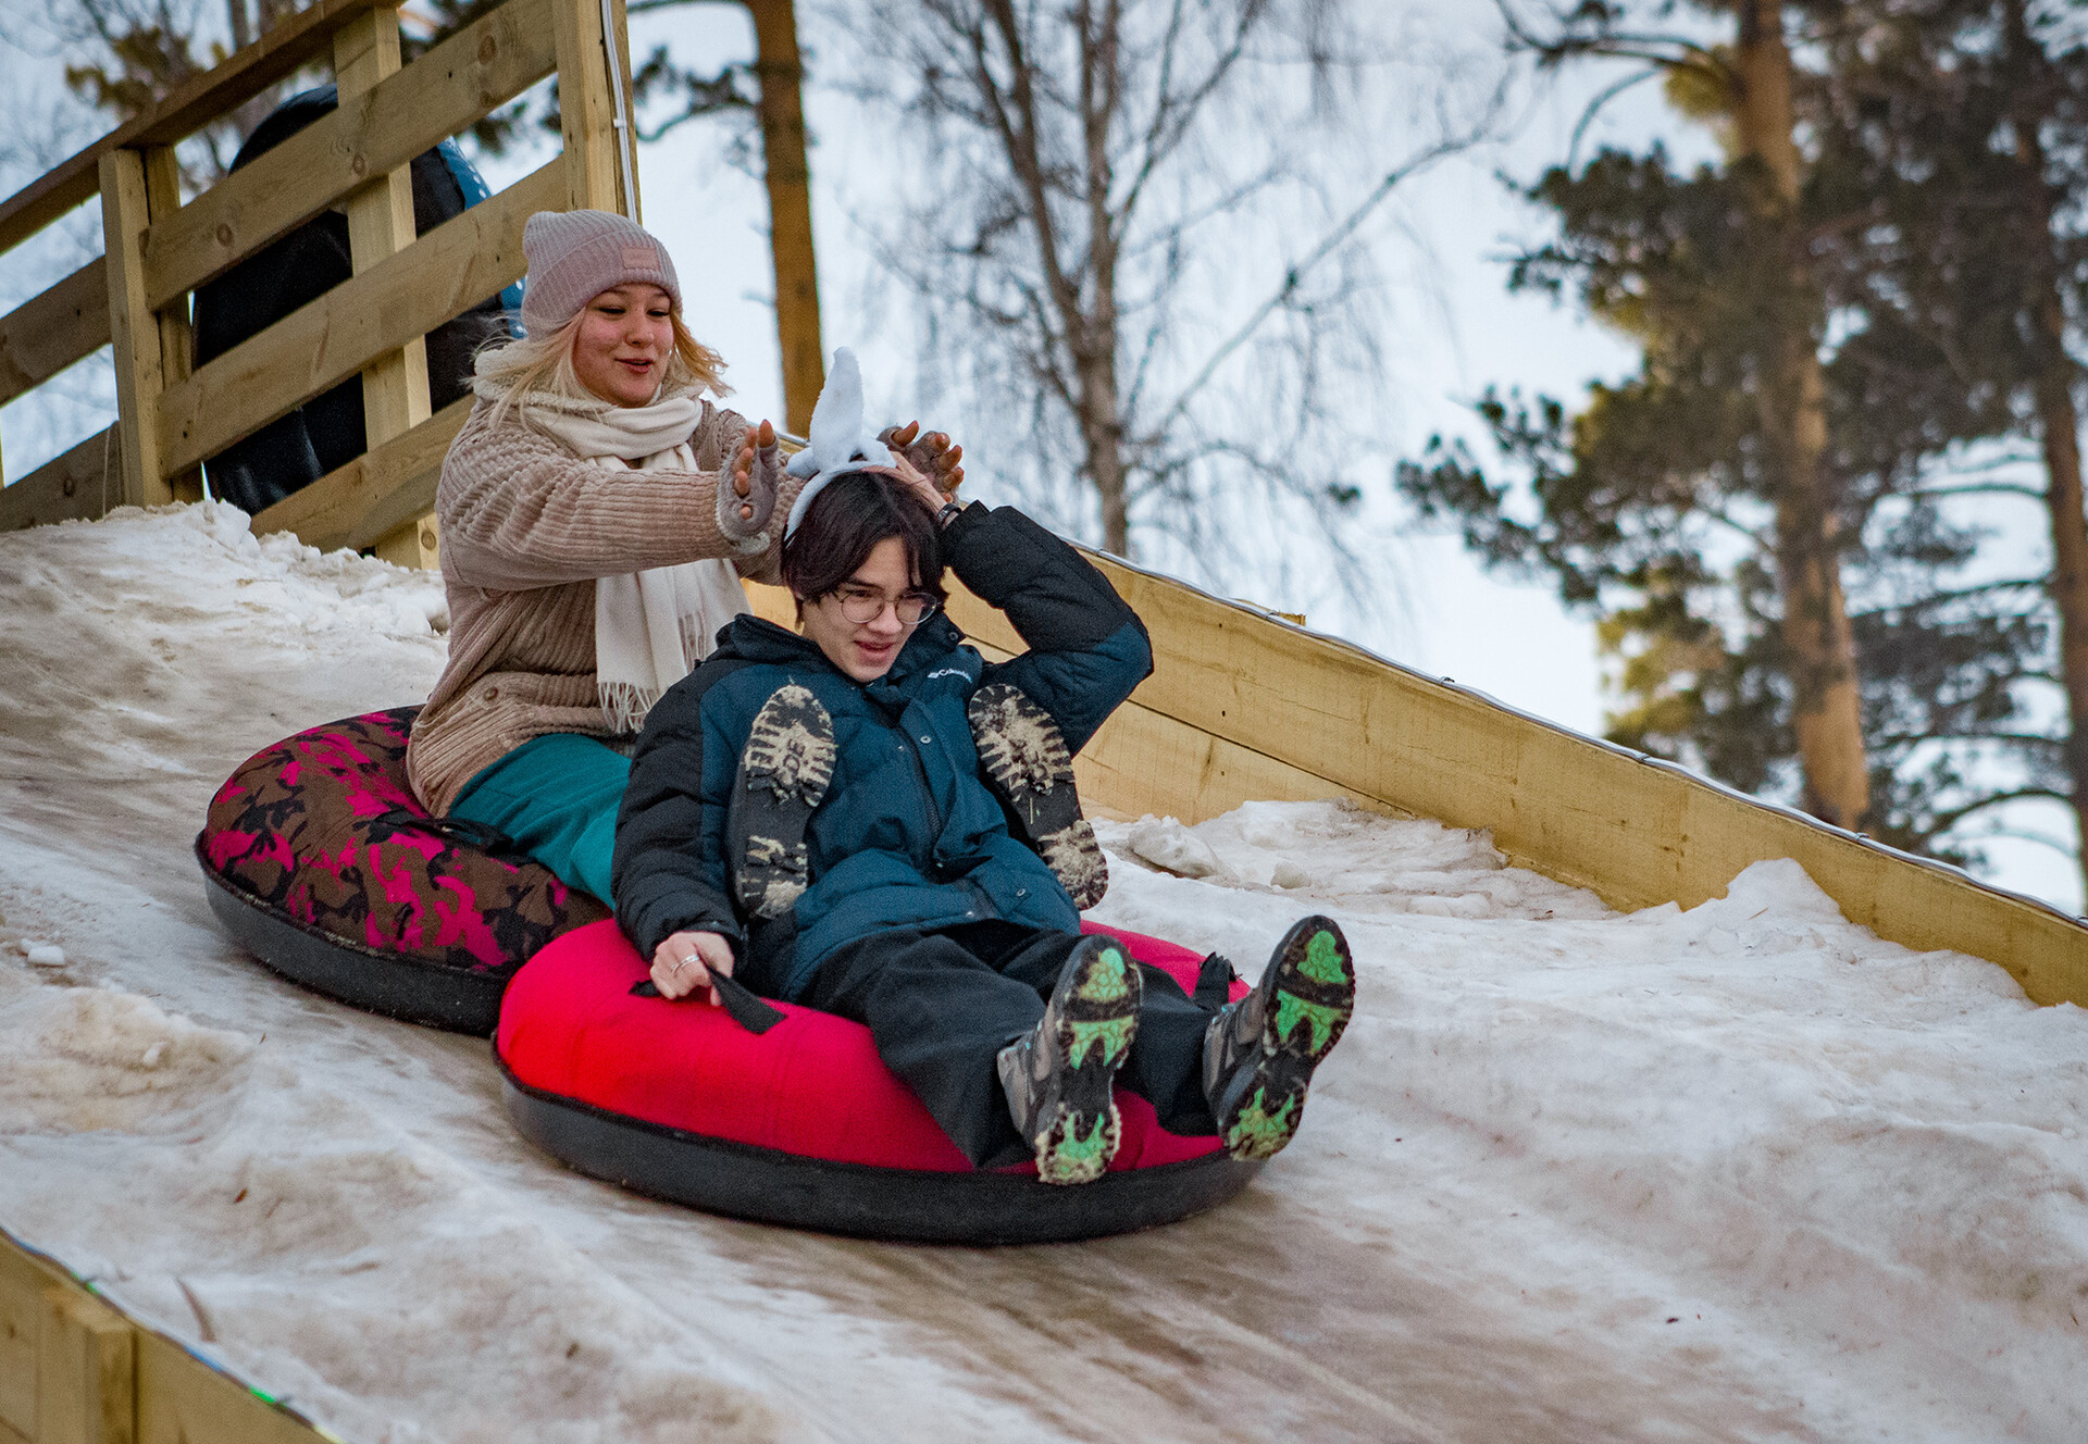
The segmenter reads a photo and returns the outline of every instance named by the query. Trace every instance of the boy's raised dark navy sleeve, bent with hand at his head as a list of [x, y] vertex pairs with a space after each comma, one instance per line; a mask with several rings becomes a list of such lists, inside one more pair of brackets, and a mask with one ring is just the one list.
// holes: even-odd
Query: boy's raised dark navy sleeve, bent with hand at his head
[[1086, 557], [1013, 507], [971, 503], [942, 543], [958, 580], [1029, 643], [983, 682], [1021, 687], [1079, 751], [1153, 674], [1146, 624]]

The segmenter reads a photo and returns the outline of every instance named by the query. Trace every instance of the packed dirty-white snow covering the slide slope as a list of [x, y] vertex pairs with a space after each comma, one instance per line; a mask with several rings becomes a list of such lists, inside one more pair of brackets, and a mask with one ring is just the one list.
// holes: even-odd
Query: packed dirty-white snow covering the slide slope
[[1332, 801], [1109, 822], [1092, 916], [1355, 945], [1232, 1204], [900, 1248], [568, 1173], [484, 1039], [265, 972], [190, 858], [443, 624], [211, 503], [0, 536], [0, 1225], [349, 1440], [2088, 1438], [2088, 1022], [1792, 862], [1616, 914]]

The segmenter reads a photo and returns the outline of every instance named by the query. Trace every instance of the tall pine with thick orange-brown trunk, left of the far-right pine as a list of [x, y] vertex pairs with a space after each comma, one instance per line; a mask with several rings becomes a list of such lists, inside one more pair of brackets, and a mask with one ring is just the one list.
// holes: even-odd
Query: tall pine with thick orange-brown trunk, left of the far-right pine
[[[1401, 486], [1489, 559], [1549, 572], [1597, 611], [1629, 699], [1616, 741], [1748, 791], [1785, 787], [1796, 760], [1819, 816], [1967, 858], [1952, 828], [2025, 791], [1990, 753], [2023, 735], [2046, 626], [2007, 586], [1954, 584], [1982, 532], [1931, 474], [2011, 430], [2007, 386], [1971, 384], [1944, 330], [1879, 303], [1879, 165], [1823, 140], [1846, 94], [1833, 67], [1879, 33], [1867, 6], [1702, 8], [1737, 8], [1733, 44], [1656, 44], [1599, 4], [1539, 38], [1558, 61], [1662, 65], [1668, 96], [1727, 144], [1723, 165], [1687, 175], [1658, 146], [1608, 150], [1531, 190], [1560, 240], [1510, 284], [1572, 290], [1639, 340], [1639, 374], [1593, 386], [1576, 417], [1545, 399], [1480, 403], [1531, 478], [1535, 520], [1462, 447], [1432, 444]], [[1789, 65], [1785, 25], [1827, 73]], [[1869, 762], [1856, 816], [1850, 726]]]

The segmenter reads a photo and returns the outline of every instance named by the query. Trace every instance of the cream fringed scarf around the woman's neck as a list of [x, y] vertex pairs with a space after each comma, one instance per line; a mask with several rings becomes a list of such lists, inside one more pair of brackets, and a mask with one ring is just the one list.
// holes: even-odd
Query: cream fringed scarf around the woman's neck
[[[487, 380], [480, 396], [499, 399]], [[518, 399], [520, 401], [520, 399]], [[695, 472], [689, 436], [704, 415], [693, 394], [645, 407], [537, 390], [528, 424], [610, 472]], [[725, 484], [725, 474], [718, 474]], [[768, 545], [766, 536], [756, 538]], [[683, 561], [595, 578], [595, 697], [612, 732], [637, 732], [660, 695], [710, 653], [718, 628], [748, 609], [731, 561]]]

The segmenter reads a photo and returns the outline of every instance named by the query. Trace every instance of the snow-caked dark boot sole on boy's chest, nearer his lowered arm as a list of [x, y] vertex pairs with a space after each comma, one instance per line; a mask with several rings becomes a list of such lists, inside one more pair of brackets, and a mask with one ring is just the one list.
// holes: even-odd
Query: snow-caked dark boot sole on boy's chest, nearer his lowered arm
[[733, 891], [756, 918], [781, 918], [804, 893], [804, 828], [833, 783], [833, 718], [808, 687], [787, 682], [754, 714], [725, 818]]

